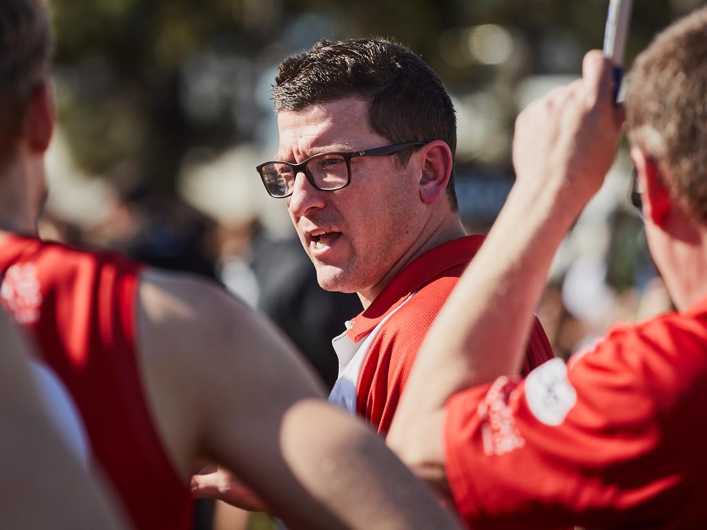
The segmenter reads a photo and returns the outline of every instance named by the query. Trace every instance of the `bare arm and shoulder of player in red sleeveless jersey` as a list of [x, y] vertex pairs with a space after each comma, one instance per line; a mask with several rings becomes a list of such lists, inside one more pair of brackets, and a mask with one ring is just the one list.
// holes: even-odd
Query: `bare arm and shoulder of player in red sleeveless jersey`
[[175, 418], [160, 428], [182, 469], [194, 456], [226, 466], [293, 527], [457, 527], [382, 440], [322, 399], [291, 345], [243, 303], [155, 273], [140, 293], [151, 401]]

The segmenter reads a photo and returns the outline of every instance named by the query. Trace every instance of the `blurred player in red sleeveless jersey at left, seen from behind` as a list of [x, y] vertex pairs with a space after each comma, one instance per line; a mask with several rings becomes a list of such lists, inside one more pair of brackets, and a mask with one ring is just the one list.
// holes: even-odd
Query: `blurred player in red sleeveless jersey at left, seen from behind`
[[[322, 399], [289, 343], [243, 302], [199, 278], [37, 237], [54, 127], [51, 49], [42, 0], [0, 2], [0, 303], [52, 376], [38, 382], [62, 412], [53, 417], [88, 448], [127, 523], [189, 528], [193, 490], [209, 493], [191, 480], [206, 459], [238, 473], [294, 528], [455, 528], [373, 432]], [[12, 425], [2, 428], [6, 444], [18, 442], [6, 435]], [[25, 462], [25, 472], [43, 481], [41, 464]], [[5, 478], [6, 489], [23, 485]]]

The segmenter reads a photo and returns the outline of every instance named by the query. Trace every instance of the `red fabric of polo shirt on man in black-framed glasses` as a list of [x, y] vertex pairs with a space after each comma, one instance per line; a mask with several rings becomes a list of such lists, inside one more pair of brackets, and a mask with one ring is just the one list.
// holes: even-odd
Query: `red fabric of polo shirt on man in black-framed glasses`
[[[409, 295], [416, 293], [385, 322], [361, 366], [356, 408], [378, 432], [385, 433], [390, 429], [417, 351], [483, 242], [481, 235], [460, 237], [417, 257], [393, 278], [368, 309], [354, 319], [354, 326], [346, 332], [352, 341], [361, 341]], [[524, 373], [552, 357], [550, 343], [536, 319]]]

